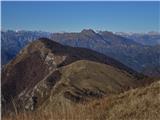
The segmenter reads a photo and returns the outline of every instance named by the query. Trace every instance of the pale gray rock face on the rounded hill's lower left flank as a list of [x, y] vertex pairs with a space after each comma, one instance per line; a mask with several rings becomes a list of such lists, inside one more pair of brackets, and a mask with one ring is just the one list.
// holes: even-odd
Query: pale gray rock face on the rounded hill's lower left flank
[[39, 104], [43, 104], [43, 102], [49, 98], [52, 88], [59, 79], [60, 72], [54, 70], [37, 83], [34, 88], [24, 93], [23, 96], [20, 96], [18, 99], [23, 101], [23, 108], [27, 111], [34, 111]]

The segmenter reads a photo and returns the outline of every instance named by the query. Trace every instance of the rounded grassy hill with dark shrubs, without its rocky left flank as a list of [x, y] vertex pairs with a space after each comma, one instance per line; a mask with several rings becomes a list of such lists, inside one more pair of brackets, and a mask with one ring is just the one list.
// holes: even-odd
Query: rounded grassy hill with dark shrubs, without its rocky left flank
[[138, 86], [138, 80], [126, 71], [87, 60], [64, 66], [59, 72], [60, 80], [52, 88], [44, 107], [58, 104], [61, 99], [83, 102], [118, 94]]

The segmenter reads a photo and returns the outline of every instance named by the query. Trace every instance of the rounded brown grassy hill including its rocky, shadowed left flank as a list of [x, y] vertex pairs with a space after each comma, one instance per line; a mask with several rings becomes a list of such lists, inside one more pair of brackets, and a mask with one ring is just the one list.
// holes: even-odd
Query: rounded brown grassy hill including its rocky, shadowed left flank
[[[69, 103], [90, 101], [118, 94], [138, 85], [136, 77], [124, 70], [106, 64], [79, 60], [53, 71], [51, 75], [30, 89], [30, 93], [37, 97], [36, 108], [55, 109], [63, 101]], [[27, 97], [31, 98], [32, 95]], [[23, 103], [28, 106], [30, 99]]]

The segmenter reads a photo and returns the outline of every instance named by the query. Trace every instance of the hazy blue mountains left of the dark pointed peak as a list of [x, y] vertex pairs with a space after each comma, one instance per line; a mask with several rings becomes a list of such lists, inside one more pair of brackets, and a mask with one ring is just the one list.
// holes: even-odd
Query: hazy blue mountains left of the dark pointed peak
[[49, 37], [50, 33], [41, 31], [1, 31], [1, 62], [8, 63], [29, 42], [39, 37]]

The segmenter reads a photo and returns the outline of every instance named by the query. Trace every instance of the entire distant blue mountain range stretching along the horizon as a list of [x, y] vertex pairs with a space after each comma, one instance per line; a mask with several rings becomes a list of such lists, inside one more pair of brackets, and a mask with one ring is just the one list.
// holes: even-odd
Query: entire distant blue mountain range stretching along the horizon
[[48, 37], [64, 45], [83, 47], [103, 53], [149, 76], [160, 75], [160, 35], [127, 34], [84, 29], [79, 33], [2, 31], [2, 64], [8, 63], [28, 43]]

